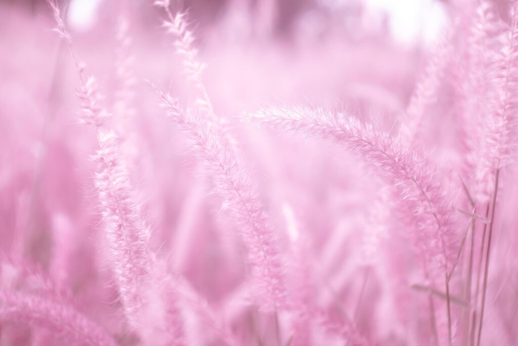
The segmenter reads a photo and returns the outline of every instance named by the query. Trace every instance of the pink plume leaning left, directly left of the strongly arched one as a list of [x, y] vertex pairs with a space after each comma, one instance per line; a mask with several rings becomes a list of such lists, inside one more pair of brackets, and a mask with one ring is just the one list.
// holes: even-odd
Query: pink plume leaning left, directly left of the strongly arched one
[[218, 194], [228, 204], [241, 227], [252, 264], [257, 304], [265, 311], [285, 308], [283, 265], [277, 236], [246, 172], [240, 167], [226, 140], [204, 119], [183, 110], [178, 101], [167, 94], [162, 93], [161, 98], [161, 107], [176, 126], [189, 136], [196, 155], [209, 170]]

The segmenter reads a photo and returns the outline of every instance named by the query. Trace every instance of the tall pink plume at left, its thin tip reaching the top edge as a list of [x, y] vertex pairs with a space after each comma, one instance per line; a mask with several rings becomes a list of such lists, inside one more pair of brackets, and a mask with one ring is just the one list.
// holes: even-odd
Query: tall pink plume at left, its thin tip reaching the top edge
[[115, 263], [114, 274], [120, 291], [126, 317], [133, 324], [141, 309], [143, 289], [150, 279], [151, 254], [148, 248], [150, 231], [142, 222], [138, 207], [132, 196], [130, 178], [122, 161], [117, 135], [107, 128], [109, 113], [100, 105], [102, 99], [94, 77], [85, 79], [84, 67], [78, 63], [71, 48], [70, 35], [66, 32], [59, 8], [49, 2], [57, 31], [66, 37], [72, 57], [78, 66], [81, 89], [81, 120], [92, 124], [97, 134], [99, 149], [93, 159], [97, 162], [95, 185], [99, 198], [99, 210], [106, 223], [108, 244]]

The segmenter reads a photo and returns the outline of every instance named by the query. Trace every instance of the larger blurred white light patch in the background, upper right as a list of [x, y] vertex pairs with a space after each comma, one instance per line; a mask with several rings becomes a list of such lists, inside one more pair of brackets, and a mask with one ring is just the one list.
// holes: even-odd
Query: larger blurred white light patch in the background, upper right
[[365, 0], [368, 9], [384, 12], [394, 39], [401, 44], [436, 41], [448, 17], [443, 5], [434, 0]]

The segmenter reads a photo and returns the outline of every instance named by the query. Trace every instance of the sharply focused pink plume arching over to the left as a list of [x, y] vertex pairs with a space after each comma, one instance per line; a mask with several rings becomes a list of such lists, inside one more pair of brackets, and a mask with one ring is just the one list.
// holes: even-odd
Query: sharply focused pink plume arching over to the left
[[457, 233], [452, 210], [425, 162], [389, 135], [342, 113], [309, 108], [262, 109], [247, 119], [270, 128], [303, 132], [346, 146], [380, 169], [400, 191], [415, 222], [418, 250], [445, 273], [452, 268]]

